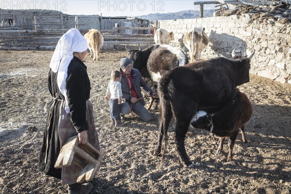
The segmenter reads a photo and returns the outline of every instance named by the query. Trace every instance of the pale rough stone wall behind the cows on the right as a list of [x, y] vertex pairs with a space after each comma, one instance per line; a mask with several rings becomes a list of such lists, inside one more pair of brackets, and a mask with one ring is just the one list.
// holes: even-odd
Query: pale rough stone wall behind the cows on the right
[[[256, 50], [252, 58], [252, 74], [281, 83], [291, 83], [291, 24], [280, 24], [270, 19], [253, 21], [250, 14], [195, 19], [161, 20], [159, 27], [172, 31], [175, 42], [181, 43], [184, 33], [194, 27], [205, 28], [213, 57], [231, 57], [238, 48], [242, 54]], [[174, 44], [175, 44], [174, 42]]]

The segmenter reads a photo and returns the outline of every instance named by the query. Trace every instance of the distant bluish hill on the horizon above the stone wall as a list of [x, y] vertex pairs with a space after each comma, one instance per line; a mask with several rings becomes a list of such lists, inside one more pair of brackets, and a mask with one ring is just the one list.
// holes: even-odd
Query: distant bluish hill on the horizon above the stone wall
[[[213, 10], [204, 10], [204, 17], [211, 17], [213, 16]], [[136, 16], [143, 19], [148, 20], [172, 20], [172, 19], [189, 19], [189, 18], [198, 18], [200, 16], [199, 11], [194, 10], [186, 10], [174, 13], [165, 13], [165, 14], [148, 14], [144, 16]]]

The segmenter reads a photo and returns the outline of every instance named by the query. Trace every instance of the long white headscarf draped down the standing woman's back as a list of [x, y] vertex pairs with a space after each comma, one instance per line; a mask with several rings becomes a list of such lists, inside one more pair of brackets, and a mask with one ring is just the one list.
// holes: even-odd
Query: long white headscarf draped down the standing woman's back
[[65, 97], [65, 111], [70, 112], [66, 95], [66, 78], [68, 66], [73, 59], [73, 52], [84, 52], [87, 50], [86, 39], [79, 30], [70, 29], [60, 38], [56, 49], [50, 60], [49, 67], [53, 72], [58, 72], [57, 83], [61, 93]]

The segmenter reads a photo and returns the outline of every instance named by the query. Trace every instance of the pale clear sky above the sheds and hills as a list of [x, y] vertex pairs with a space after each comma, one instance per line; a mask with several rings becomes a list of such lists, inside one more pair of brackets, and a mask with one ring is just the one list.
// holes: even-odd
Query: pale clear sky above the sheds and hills
[[[56, 10], [68, 15], [142, 16], [184, 10], [198, 11], [199, 7], [194, 6], [194, 1], [195, 0], [0, 0], [0, 8], [18, 10]], [[205, 9], [213, 9], [213, 5], [205, 6]]]

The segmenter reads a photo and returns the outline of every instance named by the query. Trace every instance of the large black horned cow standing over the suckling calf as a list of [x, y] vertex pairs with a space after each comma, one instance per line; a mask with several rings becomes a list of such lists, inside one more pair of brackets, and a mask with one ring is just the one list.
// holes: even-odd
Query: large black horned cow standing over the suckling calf
[[185, 150], [185, 137], [191, 118], [197, 110], [221, 108], [238, 85], [249, 81], [250, 59], [255, 51], [242, 59], [223, 57], [200, 61], [167, 71], [158, 82], [160, 97], [160, 127], [155, 155], [162, 156], [162, 140], [167, 142], [167, 130], [175, 117], [175, 143], [181, 160], [193, 167]]

